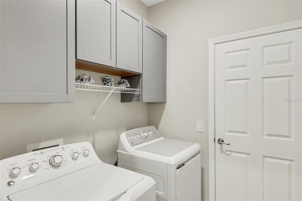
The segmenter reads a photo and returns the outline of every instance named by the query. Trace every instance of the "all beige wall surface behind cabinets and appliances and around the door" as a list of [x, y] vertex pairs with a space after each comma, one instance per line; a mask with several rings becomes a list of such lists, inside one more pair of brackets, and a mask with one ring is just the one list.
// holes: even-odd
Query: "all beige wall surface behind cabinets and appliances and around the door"
[[[120, 133], [154, 125], [164, 137], [201, 144], [202, 197], [208, 200], [208, 39], [300, 20], [302, 2], [167, 0], [149, 8], [137, 0], [120, 2], [168, 35], [167, 103], [120, 103], [114, 93], [96, 120], [92, 114], [106, 92], [77, 90], [72, 104], [1, 104], [0, 158], [63, 138], [66, 144], [91, 142], [102, 161], [114, 164]], [[101, 74], [88, 73], [99, 82]], [[203, 133], [196, 132], [196, 121], [204, 122]]]

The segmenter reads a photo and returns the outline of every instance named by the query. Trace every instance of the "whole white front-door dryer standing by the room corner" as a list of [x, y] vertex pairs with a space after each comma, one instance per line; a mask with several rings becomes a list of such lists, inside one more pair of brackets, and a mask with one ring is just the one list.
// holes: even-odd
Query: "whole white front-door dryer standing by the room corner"
[[156, 200], [201, 200], [201, 146], [166, 139], [154, 126], [120, 135], [118, 166], [152, 177]]

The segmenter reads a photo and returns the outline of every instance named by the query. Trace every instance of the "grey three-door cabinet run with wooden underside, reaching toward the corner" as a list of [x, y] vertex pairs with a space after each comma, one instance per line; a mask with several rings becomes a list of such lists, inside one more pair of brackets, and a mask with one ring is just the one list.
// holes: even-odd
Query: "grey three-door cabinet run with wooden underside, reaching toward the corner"
[[167, 37], [116, 1], [77, 0], [76, 68], [121, 76], [141, 94], [122, 102], [166, 101]]

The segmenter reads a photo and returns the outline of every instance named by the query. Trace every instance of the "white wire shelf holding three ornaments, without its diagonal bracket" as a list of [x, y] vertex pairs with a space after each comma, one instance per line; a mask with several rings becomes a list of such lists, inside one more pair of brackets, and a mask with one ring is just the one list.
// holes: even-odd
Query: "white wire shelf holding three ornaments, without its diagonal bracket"
[[108, 87], [102, 85], [89, 85], [76, 83], [76, 89], [87, 91], [107, 91], [107, 92], [120, 92], [129, 94], [140, 94], [140, 89], [121, 88], [121, 87]]

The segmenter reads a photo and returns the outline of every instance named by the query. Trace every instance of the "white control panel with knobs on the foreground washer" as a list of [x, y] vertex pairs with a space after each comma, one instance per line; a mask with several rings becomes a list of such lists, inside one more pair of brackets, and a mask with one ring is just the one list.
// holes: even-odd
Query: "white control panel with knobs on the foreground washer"
[[0, 161], [0, 188], [6, 195], [103, 163], [89, 142], [46, 148]]

